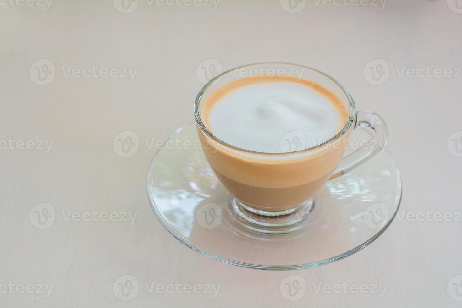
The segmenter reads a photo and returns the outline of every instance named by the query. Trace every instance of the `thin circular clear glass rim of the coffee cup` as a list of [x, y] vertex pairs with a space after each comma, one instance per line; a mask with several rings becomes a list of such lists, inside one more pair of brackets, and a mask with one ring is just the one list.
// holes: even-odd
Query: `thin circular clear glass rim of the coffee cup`
[[[204, 125], [204, 123], [202, 122], [201, 116], [199, 115], [199, 103], [201, 102], [201, 98], [202, 98], [202, 95], [204, 94], [204, 92], [207, 91], [207, 89], [217, 79], [220, 79], [221, 77], [223, 77], [224, 75], [226, 75], [226, 74], [228, 74], [230, 72], [242, 69], [244, 67], [255, 66], [255, 65], [268, 65], [268, 64], [269, 65], [271, 65], [271, 64], [273, 64], [273, 65], [274, 64], [281, 65], [282, 64], [282, 65], [290, 65], [290, 66], [302, 67], [304, 69], [309, 69], [309, 70], [311, 70], [313, 72], [320, 73], [324, 77], [326, 77], [326, 78], [330, 79], [332, 82], [334, 82], [334, 84], [337, 85], [340, 88], [340, 90], [346, 95], [346, 97], [348, 98], [349, 105], [350, 105], [348, 121], [346, 121], [345, 126], [340, 130], [340, 132], [338, 132], [334, 137], [328, 139], [327, 141], [324, 141], [323, 143], [321, 143], [319, 145], [316, 145], [316, 146], [313, 146], [313, 147], [310, 147], [310, 148], [306, 148], [306, 149], [303, 149], [303, 150], [298, 150], [298, 151], [278, 152], [278, 153], [267, 153], [267, 152], [260, 152], [260, 151], [252, 151], [252, 150], [243, 149], [243, 148], [237, 147], [235, 145], [231, 145], [231, 144], [219, 139], [212, 132], [210, 132], [207, 129], [207, 127]], [[202, 87], [201, 91], [199, 91], [199, 93], [197, 94], [195, 104], [194, 104], [194, 116], [195, 116], [196, 123], [201, 128], [201, 130], [204, 133], [206, 133], [210, 138], [212, 138], [215, 142], [217, 142], [219, 145], [226, 145], [226, 146], [228, 146], [228, 147], [230, 147], [232, 149], [247, 152], [247, 153], [254, 153], [254, 154], [260, 154], [260, 155], [263, 154], [263, 155], [271, 155], [271, 156], [280, 156], [280, 155], [287, 155], [287, 154], [292, 155], [292, 154], [305, 153], [305, 152], [309, 152], [309, 151], [316, 151], [316, 150], [318, 150], [318, 149], [320, 149], [322, 147], [327, 147], [330, 144], [332, 144], [335, 140], [337, 140], [341, 136], [343, 136], [348, 131], [348, 129], [352, 126], [353, 122], [355, 121], [355, 117], [356, 117], [356, 105], [355, 105], [355, 103], [353, 101], [353, 98], [351, 97], [350, 93], [345, 89], [345, 87], [343, 85], [340, 84], [340, 82], [338, 82], [336, 79], [332, 78], [328, 74], [326, 74], [324, 72], [321, 72], [321, 71], [319, 71], [319, 70], [317, 70], [315, 68], [308, 67], [308, 66], [302, 66], [302, 65], [298, 65], [298, 64], [293, 64], [293, 63], [287, 63], [287, 62], [258, 62], [258, 63], [253, 63], [253, 64], [234, 67], [234, 68], [232, 68], [230, 70], [227, 70], [225, 72], [222, 72], [221, 74], [219, 74], [219, 75], [213, 77], [212, 79], [210, 79], [207, 82], [207, 84]]]

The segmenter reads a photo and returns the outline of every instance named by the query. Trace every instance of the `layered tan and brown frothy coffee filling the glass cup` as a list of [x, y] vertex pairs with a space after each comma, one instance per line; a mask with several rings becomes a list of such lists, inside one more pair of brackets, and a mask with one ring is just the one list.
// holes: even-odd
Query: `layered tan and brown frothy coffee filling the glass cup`
[[[249, 128], [248, 123], [243, 124], [244, 130], [238, 129], [235, 127], [237, 123], [237, 117], [243, 114], [242, 110], [244, 109], [245, 102], [249, 101], [241, 101], [241, 103], [237, 103], [237, 112], [233, 112], [232, 115], [235, 117], [235, 121], [230, 121], [223, 119], [226, 115], [226, 108], [223, 110], [219, 110], [222, 112], [216, 119], [227, 121], [224, 124], [214, 122], [216, 119], [213, 118], [213, 110], [215, 108], [220, 108], [220, 103], [226, 99], [227, 96], [231, 95], [233, 92], [241, 91], [243, 89], [251, 89], [254, 86], [270, 86], [268, 89], [260, 88], [259, 91], [271, 91], [273, 87], [275, 90], [278, 91], [279, 94], [282, 94], [281, 89], [278, 88], [281, 84], [291, 84], [284, 87], [284, 89], [294, 89], [297, 91], [297, 96], [300, 98], [304, 94], [307, 94], [307, 97], [315, 97], [316, 104], [309, 104], [309, 106], [320, 106], [324, 104], [325, 112], [328, 115], [318, 113], [317, 116], [322, 121], [315, 121], [315, 125], [305, 126], [305, 127], [296, 127], [297, 130], [303, 130], [304, 128], [308, 127], [308, 133], [312, 133], [313, 136], [321, 138], [331, 138], [336, 133], [338, 133], [342, 127], [345, 126], [346, 122], [348, 121], [348, 112], [346, 108], [343, 107], [340, 99], [338, 99], [333, 93], [328, 91], [327, 89], [323, 88], [320, 85], [317, 85], [313, 82], [308, 80], [296, 80], [294, 78], [244, 78], [233, 81], [229, 84], [226, 84], [220, 87], [218, 90], [214, 91], [211, 95], [209, 95], [206, 99], [206, 102], [203, 104], [201, 108], [201, 120], [204, 125], [212, 132], [217, 133], [216, 128], [226, 129], [229, 128], [229, 132], [226, 135], [221, 134], [222, 140], [225, 142], [229, 142], [231, 145], [245, 148], [250, 147], [251, 142], [247, 145], [238, 144], [240, 139], [246, 139], [247, 142], [249, 140], [254, 140], [255, 143], [258, 143], [258, 150], [264, 149], [264, 151], [257, 151], [259, 153], [249, 152], [245, 150], [239, 150], [236, 148], [231, 148], [225, 144], [219, 143], [216, 140], [212, 139], [210, 136], [205, 133], [201, 127], [197, 126], [197, 131], [199, 134], [199, 138], [201, 139], [204, 146], [204, 153], [207, 157], [207, 161], [210, 163], [210, 166], [213, 168], [213, 171], [218, 176], [219, 180], [225, 185], [225, 187], [238, 199], [251, 205], [254, 208], [266, 210], [266, 211], [280, 211], [290, 209], [294, 206], [297, 206], [302, 201], [309, 199], [313, 196], [313, 194], [320, 188], [322, 185], [328, 180], [330, 175], [332, 175], [334, 169], [337, 167], [338, 163], [344, 152], [344, 145], [348, 140], [349, 134], [351, 132], [352, 126], [344, 133], [340, 138], [335, 140], [334, 144], [331, 144], [327, 147], [321, 147], [316, 150], [306, 150], [299, 152], [299, 155], [295, 157], [292, 154], [281, 153], [283, 151], [278, 151], [280, 146], [280, 136], [277, 138], [271, 139], [272, 142], [276, 142], [277, 145], [274, 144], [264, 144], [258, 139], [261, 138], [260, 133], [264, 133], [265, 127], [261, 127], [260, 130], [256, 130], [258, 133], [255, 133], [249, 138], [249, 134], [251, 133], [252, 129]], [[294, 88], [297, 86], [298, 88]], [[302, 87], [300, 89], [300, 87]], [[237, 92], [236, 92], [237, 93]], [[245, 99], [246, 92], [242, 92], [239, 94], [239, 97]], [[287, 92], [286, 92], [287, 93]], [[242, 95], [241, 95], [242, 94]], [[278, 94], [278, 95], [279, 95]], [[294, 97], [288, 93], [288, 97]], [[255, 98], [255, 97], [254, 97]], [[283, 98], [283, 97], [282, 97]], [[302, 97], [305, 99], [306, 97]], [[306, 100], [306, 99], [305, 99]], [[226, 104], [230, 106], [232, 103], [236, 102], [234, 99]], [[267, 101], [266, 101], [267, 102]], [[249, 102], [252, 103], [252, 102]], [[303, 109], [304, 106], [300, 102], [289, 102], [287, 101], [279, 101], [279, 102], [270, 102], [266, 107], [269, 110], [265, 110], [262, 112], [263, 115], [259, 114], [258, 116], [263, 117], [263, 121], [259, 121], [260, 123], [267, 124], [268, 127], [266, 129], [271, 130], [271, 126], [274, 125], [275, 122], [279, 121], [277, 118], [278, 112], [272, 112], [271, 104], [275, 107], [275, 109], [284, 109], [290, 107], [295, 107], [293, 110], [287, 112], [283, 112], [283, 115], [289, 114], [291, 117], [292, 115], [300, 116], [297, 118], [297, 123], [299, 125], [303, 125], [303, 121], [300, 119], [306, 118], [306, 113], [309, 113], [309, 109]], [[288, 106], [286, 106], [288, 105]], [[236, 105], [237, 106], [237, 105]], [[226, 107], [226, 106], [225, 106]], [[249, 107], [249, 106], [247, 106]], [[248, 113], [251, 112], [250, 109], [247, 108]], [[297, 109], [298, 108], [298, 109]], [[300, 110], [301, 108], [301, 110]], [[239, 110], [241, 112], [239, 113]], [[297, 111], [298, 110], [298, 111]], [[253, 109], [252, 111], [256, 112], [258, 110]], [[270, 111], [269, 114], [265, 114], [266, 111]], [[228, 113], [231, 113], [228, 112]], [[245, 113], [245, 112], [244, 112]], [[300, 114], [300, 115], [299, 115]], [[267, 116], [267, 118], [266, 118]], [[275, 117], [274, 121], [272, 122], [270, 118]], [[314, 117], [316, 120], [317, 117]], [[252, 117], [247, 118], [246, 121], [251, 122]], [[261, 118], [260, 118], [261, 120]], [[310, 118], [308, 117], [308, 120]], [[324, 124], [323, 121], [330, 121], [329, 123], [325, 123], [325, 126], [322, 127]], [[284, 121], [287, 123], [290, 121]], [[313, 122], [313, 121], [312, 121]], [[217, 126], [216, 124], [219, 123]], [[313, 123], [311, 123], [313, 124]], [[322, 133], [316, 134], [316, 127], [321, 126]], [[327, 129], [325, 128], [327, 127]], [[233, 131], [233, 129], [236, 129]], [[277, 133], [284, 133], [289, 132], [292, 127], [279, 127], [279, 132]], [[220, 135], [217, 134], [217, 137], [220, 138]], [[227, 138], [233, 137], [234, 134], [236, 140], [231, 141], [231, 139], [226, 140]], [[255, 138], [256, 137], [256, 138]], [[271, 136], [270, 136], [271, 137]], [[310, 139], [311, 136], [308, 136], [307, 139]], [[326, 141], [326, 140], [322, 140]], [[243, 146], [239, 146], [243, 145]], [[268, 146], [267, 148], [264, 148]], [[270, 148], [271, 146], [271, 148]], [[308, 140], [307, 140], [307, 147], [309, 147]], [[257, 149], [257, 148], [253, 148]], [[269, 151], [268, 151], [269, 150]], [[272, 152], [272, 154], [270, 154]], [[280, 154], [278, 154], [280, 153]]]

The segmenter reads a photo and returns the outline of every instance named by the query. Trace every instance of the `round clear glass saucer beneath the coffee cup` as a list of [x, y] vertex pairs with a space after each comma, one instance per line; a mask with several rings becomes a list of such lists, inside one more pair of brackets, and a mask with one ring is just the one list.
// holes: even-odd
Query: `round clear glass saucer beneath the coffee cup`
[[[368, 139], [358, 133], [364, 132], [355, 130], [351, 140]], [[200, 146], [194, 123], [177, 130], [152, 160], [148, 196], [171, 235], [225, 263], [293, 270], [341, 260], [374, 242], [392, 222], [401, 201], [399, 170], [383, 152], [328, 181], [307, 201], [309, 210], [296, 229], [264, 233], [261, 224], [252, 228], [254, 213], [232, 202]], [[267, 219], [277, 224], [277, 219], [285, 218]]]

